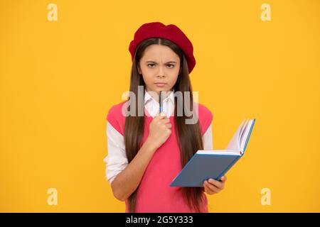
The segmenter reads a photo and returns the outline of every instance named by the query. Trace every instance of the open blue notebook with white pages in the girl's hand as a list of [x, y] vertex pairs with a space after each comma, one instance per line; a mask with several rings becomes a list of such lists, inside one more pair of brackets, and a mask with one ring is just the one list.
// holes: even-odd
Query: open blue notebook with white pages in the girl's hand
[[203, 187], [206, 179], [220, 179], [245, 153], [255, 119], [242, 121], [225, 150], [198, 150], [171, 187]]

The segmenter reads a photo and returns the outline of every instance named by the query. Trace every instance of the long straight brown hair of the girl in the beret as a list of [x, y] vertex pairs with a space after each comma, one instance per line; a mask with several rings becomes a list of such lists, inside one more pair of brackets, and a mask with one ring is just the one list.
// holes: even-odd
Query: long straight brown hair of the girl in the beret
[[[144, 54], [146, 47], [152, 44], [166, 45], [171, 50], [176, 52], [180, 57], [180, 71], [176, 84], [174, 85], [175, 92], [190, 92], [190, 108], [193, 111], [193, 96], [191, 82], [188, 74], [188, 63], [186, 57], [183, 54], [181, 48], [170, 40], [163, 38], [149, 38], [142, 41], [136, 49], [134, 60], [132, 62], [131, 79], [130, 79], [130, 92], [133, 92], [136, 97], [138, 94], [138, 86], [146, 86], [142, 75], [139, 74], [138, 66], [139, 60]], [[184, 111], [182, 116], [177, 115], [177, 101], [176, 97], [174, 99], [174, 124], [176, 128], [176, 140], [179, 145], [180, 155], [181, 155], [181, 165], [182, 167], [191, 159], [191, 157], [196, 153], [197, 150], [203, 149], [203, 141], [201, 138], [201, 130], [199, 126], [199, 121], [195, 124], [186, 124], [187, 118], [192, 118], [192, 116], [186, 116]], [[184, 96], [182, 95], [182, 100], [178, 103], [184, 105]], [[128, 101], [132, 101], [128, 97]], [[137, 155], [139, 149], [142, 147], [142, 135], [144, 134], [144, 116], [139, 116], [139, 113], [144, 113], [144, 105], [138, 105], [138, 99], [135, 99], [135, 104], [130, 104], [130, 106], [135, 105], [136, 114], [135, 116], [127, 116], [124, 124], [124, 144], [127, 153], [128, 162], [131, 162], [135, 155]], [[130, 107], [129, 106], [129, 107]], [[179, 107], [181, 108], [181, 107]], [[182, 106], [184, 109], [184, 106]], [[129, 109], [128, 109], [129, 111]], [[194, 111], [193, 111], [194, 113]], [[141, 114], [140, 114], [141, 115]], [[137, 203], [137, 191], [138, 188], [129, 196], [129, 212], [134, 212]], [[203, 199], [203, 188], [201, 187], [182, 187], [183, 198], [186, 200], [188, 206], [197, 212], [201, 212], [201, 202]]]

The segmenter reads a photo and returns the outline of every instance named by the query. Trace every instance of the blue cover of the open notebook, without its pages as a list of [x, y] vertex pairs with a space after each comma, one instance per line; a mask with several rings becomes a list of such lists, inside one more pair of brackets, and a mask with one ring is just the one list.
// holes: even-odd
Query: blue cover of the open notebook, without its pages
[[245, 152], [255, 119], [245, 140], [243, 152], [237, 155], [200, 154], [193, 155], [181, 172], [171, 182], [171, 187], [203, 187], [206, 179], [220, 179], [230, 170]]

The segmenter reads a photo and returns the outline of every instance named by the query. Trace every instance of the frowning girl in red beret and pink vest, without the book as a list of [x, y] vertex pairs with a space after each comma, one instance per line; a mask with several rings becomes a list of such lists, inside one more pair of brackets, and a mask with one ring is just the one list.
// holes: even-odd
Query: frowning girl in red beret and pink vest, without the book
[[[220, 192], [225, 176], [220, 181], [208, 179], [203, 187], [170, 187], [197, 150], [213, 149], [213, 116], [205, 106], [193, 103], [189, 79], [196, 65], [193, 45], [177, 26], [153, 22], [134, 33], [129, 52], [130, 92], [137, 98], [112, 106], [107, 114], [104, 161], [112, 192], [125, 201], [126, 212], [208, 212], [206, 194]], [[142, 86], [144, 99], [138, 97]], [[159, 92], [166, 93], [161, 113]], [[190, 92], [196, 123], [187, 124], [193, 116], [184, 111], [177, 114], [186, 97], [177, 101], [175, 92]]]

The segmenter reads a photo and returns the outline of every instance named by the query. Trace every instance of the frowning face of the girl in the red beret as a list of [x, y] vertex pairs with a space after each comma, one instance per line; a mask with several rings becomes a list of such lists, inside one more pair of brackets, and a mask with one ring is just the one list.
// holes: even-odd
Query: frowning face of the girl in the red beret
[[144, 50], [139, 61], [139, 73], [144, 78], [146, 91], [171, 91], [178, 79], [180, 58], [166, 45], [152, 44]]

